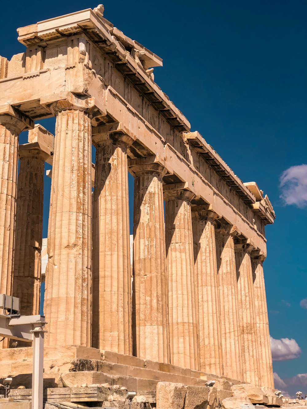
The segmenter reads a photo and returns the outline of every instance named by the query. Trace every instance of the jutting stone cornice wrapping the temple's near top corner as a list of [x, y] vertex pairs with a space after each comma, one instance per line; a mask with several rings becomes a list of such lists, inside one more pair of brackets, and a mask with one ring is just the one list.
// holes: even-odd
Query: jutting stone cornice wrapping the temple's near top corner
[[[115, 52], [124, 66], [127, 67], [128, 72], [136, 74], [140, 81], [146, 84], [149, 92], [153, 92], [155, 97], [160, 99], [166, 110], [171, 111], [169, 119], [173, 126], [176, 126], [178, 130], [190, 130], [189, 121], [146, 72], [150, 67], [162, 66], [161, 58], [137, 41], [124, 36], [120, 30], [115, 29], [113, 33], [110, 24], [93, 10], [86, 9], [38, 22], [36, 26], [21, 27], [18, 29], [18, 41], [27, 47], [35, 44], [45, 45], [55, 40], [66, 40], [68, 35], [85, 32], [89, 40], [97, 44], [97, 37], [100, 37], [103, 43], [103, 52], [106, 50]], [[126, 50], [122, 42], [132, 48], [131, 53]], [[133, 47], [131, 47], [131, 42]], [[117, 70], [120, 70], [120, 66], [117, 66]]]

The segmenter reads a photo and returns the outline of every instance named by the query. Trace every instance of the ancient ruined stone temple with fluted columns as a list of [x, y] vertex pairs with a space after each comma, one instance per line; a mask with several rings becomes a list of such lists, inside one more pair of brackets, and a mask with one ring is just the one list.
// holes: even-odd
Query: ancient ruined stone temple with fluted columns
[[[154, 82], [161, 58], [103, 11], [19, 28], [25, 52], [0, 57], [0, 293], [25, 315], [39, 311], [52, 165], [45, 399], [121, 408], [128, 389], [135, 408], [173, 407], [175, 392], [178, 408], [200, 405], [195, 396], [213, 408], [245, 387], [245, 403], [281, 405], [262, 268], [269, 198], [191, 132]], [[39, 124], [47, 117], [54, 135]], [[27, 399], [32, 348], [1, 348], [0, 378]]]

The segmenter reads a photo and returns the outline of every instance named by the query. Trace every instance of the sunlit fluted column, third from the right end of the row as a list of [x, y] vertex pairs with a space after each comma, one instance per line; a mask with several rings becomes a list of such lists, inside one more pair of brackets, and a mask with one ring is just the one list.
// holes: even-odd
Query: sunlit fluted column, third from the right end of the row
[[234, 234], [235, 228], [230, 225], [218, 225], [215, 229], [221, 302], [221, 345], [224, 376], [243, 380]]

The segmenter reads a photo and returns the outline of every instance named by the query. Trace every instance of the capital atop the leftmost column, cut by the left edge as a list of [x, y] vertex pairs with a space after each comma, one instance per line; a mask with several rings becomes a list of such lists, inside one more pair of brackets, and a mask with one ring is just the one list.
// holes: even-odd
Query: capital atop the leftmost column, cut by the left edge
[[32, 119], [10, 104], [0, 106], [0, 125], [14, 132], [17, 131], [18, 133], [34, 128]]

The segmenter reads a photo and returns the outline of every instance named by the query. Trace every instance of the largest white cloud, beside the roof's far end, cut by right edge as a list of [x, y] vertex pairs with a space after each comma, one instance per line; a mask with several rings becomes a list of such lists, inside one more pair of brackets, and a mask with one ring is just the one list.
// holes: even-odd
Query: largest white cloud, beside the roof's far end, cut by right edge
[[291, 166], [282, 172], [279, 185], [280, 198], [285, 205], [305, 207], [307, 205], [307, 165]]

